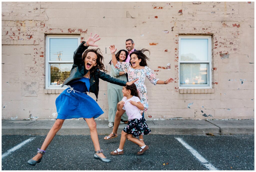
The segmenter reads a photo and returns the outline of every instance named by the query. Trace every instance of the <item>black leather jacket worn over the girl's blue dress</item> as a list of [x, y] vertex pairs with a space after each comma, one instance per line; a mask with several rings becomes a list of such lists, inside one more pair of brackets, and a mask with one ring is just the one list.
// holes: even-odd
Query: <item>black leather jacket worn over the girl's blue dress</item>
[[[82, 61], [82, 54], [88, 48], [83, 45], [84, 43], [85, 42], [82, 42], [79, 45], [79, 47], [76, 49], [76, 51], [74, 52], [74, 56], [73, 56], [74, 64], [72, 66], [70, 75], [63, 82], [61, 87], [63, 87], [64, 85], [68, 85], [70, 83], [70, 81], [72, 81], [73, 79], [82, 78], [88, 72], [88, 70], [86, 70], [84, 67], [84, 62]], [[99, 78], [104, 81], [113, 83], [113, 84], [117, 84], [117, 85], [121, 85], [121, 86], [126, 85], [126, 81], [112, 78], [112, 77], [110, 77], [110, 75], [106, 74], [105, 72], [100, 71], [99, 69], [95, 70], [94, 73], [90, 74], [90, 90], [89, 90], [89, 92], [92, 92], [95, 94], [96, 101], [98, 100], [98, 94], [99, 94]]]

